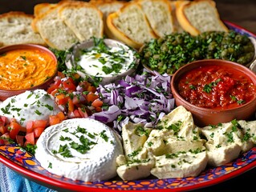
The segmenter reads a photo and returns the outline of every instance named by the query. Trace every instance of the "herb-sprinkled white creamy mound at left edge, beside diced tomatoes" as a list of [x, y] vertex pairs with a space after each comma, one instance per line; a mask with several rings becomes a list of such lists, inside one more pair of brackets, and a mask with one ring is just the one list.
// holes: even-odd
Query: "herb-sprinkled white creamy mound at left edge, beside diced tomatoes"
[[0, 115], [15, 118], [22, 126], [32, 120], [48, 120], [59, 113], [59, 107], [45, 90], [27, 90], [0, 103]]

